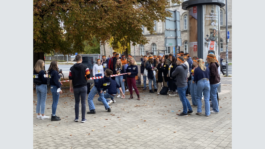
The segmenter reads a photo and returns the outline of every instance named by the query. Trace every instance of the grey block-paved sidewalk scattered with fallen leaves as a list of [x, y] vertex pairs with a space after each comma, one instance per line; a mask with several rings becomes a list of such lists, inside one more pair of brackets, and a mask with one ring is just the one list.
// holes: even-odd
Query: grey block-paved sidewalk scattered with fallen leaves
[[[183, 110], [179, 97], [139, 90], [141, 100], [135, 99], [135, 92], [134, 99], [128, 99], [130, 95], [126, 99], [115, 98], [116, 103], [110, 105], [111, 112], [94, 98], [96, 114], [86, 114], [85, 123], [81, 123], [81, 103], [80, 121], [74, 122], [75, 102], [69, 90], [63, 90], [60, 95], [56, 115], [61, 121], [36, 119], [34, 90], [33, 148], [229, 149], [232, 148], [232, 85], [222, 85], [221, 90], [220, 112], [209, 117], [205, 116], [204, 108], [202, 115], [196, 115], [196, 107], [192, 107], [194, 113], [187, 117], [177, 116]], [[188, 99], [191, 102], [190, 96]], [[52, 95], [48, 94], [47, 116], [51, 116], [51, 104]]]

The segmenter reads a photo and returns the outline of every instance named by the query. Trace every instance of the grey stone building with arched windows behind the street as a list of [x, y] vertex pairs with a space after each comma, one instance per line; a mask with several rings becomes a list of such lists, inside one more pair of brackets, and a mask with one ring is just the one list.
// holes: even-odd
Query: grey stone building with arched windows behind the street
[[[182, 0], [184, 2], [186, 0]], [[187, 29], [187, 11], [182, 9], [181, 4], [177, 5], [174, 3], [171, 3], [170, 1], [170, 8], [169, 10], [177, 10], [180, 12], [180, 28], [181, 28], [181, 37], [182, 37], [182, 46], [180, 46], [179, 51], [184, 51], [184, 52], [189, 52], [188, 51], [188, 29]], [[232, 0], [227, 0], [227, 7], [228, 7], [228, 30], [230, 32], [230, 38], [229, 38], [229, 43], [228, 43], [228, 59], [229, 61], [232, 61]], [[220, 22], [220, 42], [221, 42], [221, 53], [222, 53], [222, 58], [225, 59], [226, 57], [226, 7], [220, 8], [220, 20], [222, 18], [222, 22]], [[145, 51], [151, 51], [152, 50], [166, 50], [165, 52], [160, 51], [159, 53], [164, 53], [165, 54], [173, 54], [173, 47], [165, 47], [165, 22], [159, 20], [154, 21], [154, 24], [156, 25], [154, 28], [156, 30], [156, 34], [150, 34], [146, 28], [143, 27], [143, 34], [145, 37], [147, 37], [149, 43], [145, 45], [136, 45], [135, 46], [135, 58], [136, 61], [140, 61], [140, 55], [141, 53], [143, 55], [146, 54]], [[103, 45], [100, 47], [100, 54], [102, 53], [103, 50]], [[106, 43], [105, 45], [105, 50], [106, 50], [106, 56], [112, 55], [112, 48], [109, 47], [109, 44]], [[177, 52], [177, 49], [175, 49], [175, 54]], [[134, 46], [131, 43], [131, 55], [134, 57]], [[158, 52], [157, 52], [158, 55]], [[225, 62], [225, 60], [223, 61]]]

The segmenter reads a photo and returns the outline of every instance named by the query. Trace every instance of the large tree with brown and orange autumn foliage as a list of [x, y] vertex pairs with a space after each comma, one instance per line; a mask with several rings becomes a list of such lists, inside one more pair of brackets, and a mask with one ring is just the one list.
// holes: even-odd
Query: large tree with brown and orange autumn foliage
[[[172, 3], [180, 3], [172, 0]], [[167, 0], [33, 0], [33, 66], [44, 53], [83, 52], [93, 38], [113, 49], [148, 43], [141, 27], [154, 34], [154, 20], [171, 16]]]

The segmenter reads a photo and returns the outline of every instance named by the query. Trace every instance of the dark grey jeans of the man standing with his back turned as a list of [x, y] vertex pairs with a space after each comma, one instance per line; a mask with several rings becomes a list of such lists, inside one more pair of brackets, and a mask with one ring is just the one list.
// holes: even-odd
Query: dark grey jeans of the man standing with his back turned
[[81, 113], [82, 119], [86, 117], [86, 93], [87, 93], [87, 86], [79, 87], [74, 89], [74, 113], [76, 117], [79, 117], [79, 103], [80, 103], [80, 96], [81, 96]]

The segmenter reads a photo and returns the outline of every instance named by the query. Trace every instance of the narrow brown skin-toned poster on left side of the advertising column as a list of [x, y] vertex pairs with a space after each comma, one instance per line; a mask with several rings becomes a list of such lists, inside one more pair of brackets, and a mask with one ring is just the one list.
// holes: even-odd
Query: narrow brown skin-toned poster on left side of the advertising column
[[191, 57], [198, 56], [197, 6], [188, 8], [188, 52]]

